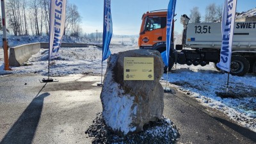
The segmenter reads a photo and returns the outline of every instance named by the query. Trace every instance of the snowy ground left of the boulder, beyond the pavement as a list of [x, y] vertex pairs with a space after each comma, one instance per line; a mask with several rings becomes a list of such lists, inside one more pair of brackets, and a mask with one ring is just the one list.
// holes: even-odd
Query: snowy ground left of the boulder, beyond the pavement
[[[110, 47], [112, 54], [135, 49], [129, 46]], [[50, 76], [67, 76], [69, 74], [101, 74], [102, 49], [98, 47], [63, 47], [60, 49], [60, 58], [51, 61]], [[48, 50], [40, 49], [22, 67], [12, 67], [11, 72], [3, 70], [3, 59], [0, 59], [0, 75], [4, 74], [48, 74]], [[107, 61], [103, 62], [103, 74], [106, 71]]]

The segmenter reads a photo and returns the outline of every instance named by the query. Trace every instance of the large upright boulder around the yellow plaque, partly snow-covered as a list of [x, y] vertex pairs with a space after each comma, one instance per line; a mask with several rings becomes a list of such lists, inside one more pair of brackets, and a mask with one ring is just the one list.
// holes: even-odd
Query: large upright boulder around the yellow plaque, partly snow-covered
[[[154, 58], [154, 81], [124, 81], [124, 57]], [[109, 57], [100, 99], [102, 116], [116, 134], [143, 131], [143, 125], [161, 118], [164, 92], [159, 83], [163, 60], [158, 51], [131, 50]]]

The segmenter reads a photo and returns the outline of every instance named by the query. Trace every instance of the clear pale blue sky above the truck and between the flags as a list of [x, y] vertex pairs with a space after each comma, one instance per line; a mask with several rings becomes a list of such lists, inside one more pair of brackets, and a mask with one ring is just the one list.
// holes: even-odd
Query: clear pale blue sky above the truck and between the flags
[[[72, 0], [68, 2], [77, 5], [82, 16], [81, 27], [84, 32], [93, 33], [96, 29], [102, 32], [104, 0]], [[115, 35], [138, 35], [142, 14], [150, 10], [167, 9], [168, 3], [169, 0], [112, 0], [113, 33]], [[198, 6], [201, 15], [204, 16], [206, 6], [212, 3], [223, 5], [224, 0], [177, 0], [175, 31], [179, 33], [182, 31], [180, 15], [189, 15], [190, 10], [194, 6]], [[256, 0], [237, 0], [237, 12], [252, 8], [256, 8]]]

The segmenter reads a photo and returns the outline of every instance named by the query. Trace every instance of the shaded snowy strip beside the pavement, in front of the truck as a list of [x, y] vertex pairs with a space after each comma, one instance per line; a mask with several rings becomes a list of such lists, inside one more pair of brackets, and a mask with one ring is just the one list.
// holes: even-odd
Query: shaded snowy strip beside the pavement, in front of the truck
[[[213, 66], [209, 67], [211, 65], [177, 65], [177, 68], [168, 74], [168, 81], [180, 92], [195, 97], [202, 105], [223, 111], [230, 119], [256, 132], [255, 75], [230, 76], [228, 90], [237, 97], [221, 98], [218, 93], [226, 92], [227, 74], [217, 72]], [[166, 74], [163, 75], [163, 79], [164, 77], [167, 77]]]

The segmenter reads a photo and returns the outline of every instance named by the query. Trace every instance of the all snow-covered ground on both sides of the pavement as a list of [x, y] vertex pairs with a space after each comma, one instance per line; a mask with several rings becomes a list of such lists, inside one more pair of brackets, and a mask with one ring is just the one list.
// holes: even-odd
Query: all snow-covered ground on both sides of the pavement
[[[137, 44], [111, 46], [112, 53], [138, 49]], [[3, 49], [0, 50], [0, 77], [5, 74], [36, 73], [46, 76], [48, 73], [47, 49], [40, 49], [22, 67], [12, 67], [12, 71], [3, 70]], [[51, 76], [67, 76], [69, 74], [101, 74], [102, 49], [98, 47], [61, 48], [60, 58], [51, 61]], [[107, 62], [103, 62], [103, 73]], [[163, 79], [166, 79], [163, 74]], [[227, 74], [214, 69], [213, 64], [205, 67], [177, 65], [168, 74], [168, 81], [182, 93], [195, 97], [204, 106], [218, 109], [243, 127], [256, 132], [256, 76], [248, 74], [244, 77], [230, 76], [229, 91], [235, 98], [221, 98], [218, 92], [225, 92]]]

